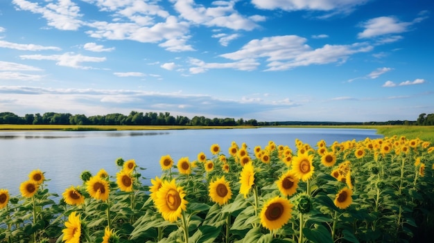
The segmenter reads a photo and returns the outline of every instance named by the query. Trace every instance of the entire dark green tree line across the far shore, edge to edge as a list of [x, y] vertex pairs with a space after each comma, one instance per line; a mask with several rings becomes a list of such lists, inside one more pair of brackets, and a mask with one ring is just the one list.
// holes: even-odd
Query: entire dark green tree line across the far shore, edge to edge
[[104, 116], [72, 115], [69, 113], [46, 112], [44, 114], [26, 114], [17, 116], [12, 112], [0, 113], [0, 124], [25, 125], [181, 125], [181, 126], [269, 126], [269, 125], [434, 125], [434, 114], [420, 114], [417, 120], [388, 120], [385, 122], [307, 122], [307, 121], [279, 121], [258, 122], [255, 119], [239, 118], [205, 118], [205, 116], [171, 116], [169, 112], [137, 112], [131, 111], [128, 116], [114, 113]]

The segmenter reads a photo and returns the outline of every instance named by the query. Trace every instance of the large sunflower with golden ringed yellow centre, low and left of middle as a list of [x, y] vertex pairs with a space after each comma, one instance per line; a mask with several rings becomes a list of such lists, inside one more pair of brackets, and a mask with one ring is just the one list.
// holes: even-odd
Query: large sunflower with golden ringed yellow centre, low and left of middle
[[162, 188], [157, 192], [155, 204], [165, 220], [175, 222], [186, 210], [185, 192], [176, 186], [175, 179], [171, 182], [163, 181]]

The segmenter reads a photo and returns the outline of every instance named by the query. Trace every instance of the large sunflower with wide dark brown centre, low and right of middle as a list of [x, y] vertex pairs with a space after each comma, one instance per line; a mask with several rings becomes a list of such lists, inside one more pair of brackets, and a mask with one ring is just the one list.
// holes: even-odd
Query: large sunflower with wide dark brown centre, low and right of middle
[[288, 199], [274, 197], [261, 210], [261, 224], [270, 231], [279, 229], [288, 223], [292, 212], [293, 204]]

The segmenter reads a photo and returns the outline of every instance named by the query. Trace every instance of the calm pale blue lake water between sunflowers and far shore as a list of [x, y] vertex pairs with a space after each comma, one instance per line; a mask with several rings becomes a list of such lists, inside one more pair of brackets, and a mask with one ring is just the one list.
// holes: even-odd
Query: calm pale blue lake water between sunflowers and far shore
[[[232, 141], [265, 147], [268, 141], [295, 147], [295, 138], [315, 146], [320, 139], [327, 145], [367, 137], [379, 138], [374, 129], [257, 128], [257, 129], [186, 129], [161, 131], [98, 132], [0, 132], [0, 188], [12, 196], [19, 194], [19, 184], [35, 169], [45, 172], [50, 192], [62, 193], [69, 186], [82, 183], [80, 174], [101, 168], [110, 175], [118, 171], [115, 161], [134, 159], [141, 174], [150, 179], [161, 174], [159, 159], [170, 154], [175, 163], [188, 156], [196, 160], [199, 152], [211, 156], [209, 148], [217, 143], [224, 154]], [[144, 183], [149, 183], [149, 180]]]

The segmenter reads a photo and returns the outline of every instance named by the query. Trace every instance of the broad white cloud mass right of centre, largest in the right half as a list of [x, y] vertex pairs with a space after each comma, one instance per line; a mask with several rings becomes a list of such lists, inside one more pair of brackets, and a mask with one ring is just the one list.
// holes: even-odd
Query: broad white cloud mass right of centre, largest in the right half
[[230, 60], [256, 60], [266, 58], [266, 71], [283, 71], [297, 66], [345, 62], [349, 55], [372, 50], [367, 44], [324, 45], [312, 49], [306, 39], [297, 35], [284, 35], [253, 39], [239, 51], [220, 55]]

